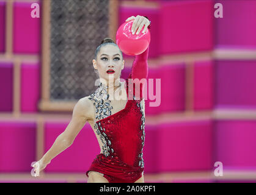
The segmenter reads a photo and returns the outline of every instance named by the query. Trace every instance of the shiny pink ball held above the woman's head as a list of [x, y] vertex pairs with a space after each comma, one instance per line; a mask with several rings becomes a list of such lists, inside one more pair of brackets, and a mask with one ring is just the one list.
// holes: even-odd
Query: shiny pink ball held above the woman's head
[[147, 29], [145, 33], [142, 33], [145, 26], [138, 35], [131, 33], [133, 21], [134, 20], [123, 23], [116, 34], [117, 45], [121, 51], [127, 55], [142, 54], [150, 43], [150, 31]]

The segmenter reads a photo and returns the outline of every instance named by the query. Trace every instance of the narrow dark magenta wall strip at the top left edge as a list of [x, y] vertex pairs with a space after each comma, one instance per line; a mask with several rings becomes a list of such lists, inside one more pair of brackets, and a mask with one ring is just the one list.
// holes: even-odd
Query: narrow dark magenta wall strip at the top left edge
[[5, 2], [0, 2], [0, 52], [5, 52]]

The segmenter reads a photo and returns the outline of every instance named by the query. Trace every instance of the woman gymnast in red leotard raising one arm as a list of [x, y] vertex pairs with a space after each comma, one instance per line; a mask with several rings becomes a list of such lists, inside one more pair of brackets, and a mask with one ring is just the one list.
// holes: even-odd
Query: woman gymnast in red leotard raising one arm
[[[142, 29], [145, 32], [147, 27], [150, 28], [150, 21], [146, 16], [131, 16], [126, 21], [133, 19], [133, 34], [139, 34]], [[136, 55], [126, 82], [120, 82], [120, 74], [125, 63], [122, 52], [111, 38], [101, 41], [92, 61], [101, 80], [98, 89], [90, 96], [79, 99], [65, 131], [57, 137], [41, 160], [32, 165], [35, 168], [35, 177], [39, 176], [39, 172], [51, 162], [51, 159], [71, 146], [76, 135], [88, 121], [101, 148], [100, 154], [92, 161], [86, 172], [88, 182], [144, 182], [144, 99], [142, 85], [139, 85], [140, 93], [137, 96], [137, 88], [130, 79], [147, 78], [147, 58], [148, 48], [142, 54]], [[111, 91], [114, 93], [110, 93]], [[125, 98], [116, 99], [115, 94], [123, 91], [125, 93], [121, 94]]]

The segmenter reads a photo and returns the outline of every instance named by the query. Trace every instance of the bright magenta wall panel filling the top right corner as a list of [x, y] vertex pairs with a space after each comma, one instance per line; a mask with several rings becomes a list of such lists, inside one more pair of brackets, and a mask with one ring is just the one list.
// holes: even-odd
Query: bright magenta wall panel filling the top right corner
[[256, 1], [218, 0], [223, 18], [214, 18], [217, 47], [256, 48]]

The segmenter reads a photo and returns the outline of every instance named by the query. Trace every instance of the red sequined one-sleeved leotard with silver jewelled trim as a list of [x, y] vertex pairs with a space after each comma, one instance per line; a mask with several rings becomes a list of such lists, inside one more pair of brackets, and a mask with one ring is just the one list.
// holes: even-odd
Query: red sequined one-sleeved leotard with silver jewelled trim
[[[142, 177], [144, 171], [142, 149], [145, 141], [143, 86], [140, 85], [140, 96], [137, 97], [135, 89], [138, 88], [131, 79], [147, 79], [147, 58], [148, 48], [142, 54], [136, 55], [132, 71], [125, 80], [128, 101], [125, 108], [119, 112], [111, 115], [113, 107], [108, 100], [108, 94], [104, 98], [98, 97], [101, 91], [90, 94], [89, 99], [93, 101], [95, 118], [98, 120], [95, 120], [94, 129], [100, 137], [103, 153], [94, 158], [86, 172], [87, 177], [89, 171], [101, 173], [109, 183], [133, 183]], [[102, 87], [101, 84], [98, 89]]]

